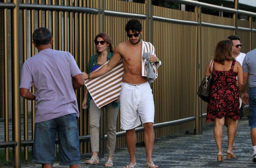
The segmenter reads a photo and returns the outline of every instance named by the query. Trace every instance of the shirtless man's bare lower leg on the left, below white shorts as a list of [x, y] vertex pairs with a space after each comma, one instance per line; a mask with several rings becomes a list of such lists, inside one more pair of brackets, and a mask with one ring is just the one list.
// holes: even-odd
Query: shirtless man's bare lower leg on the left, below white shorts
[[126, 130], [125, 140], [127, 143], [128, 151], [130, 154], [130, 162], [128, 166], [136, 166], [135, 147], [136, 147], [136, 134], [135, 128]]

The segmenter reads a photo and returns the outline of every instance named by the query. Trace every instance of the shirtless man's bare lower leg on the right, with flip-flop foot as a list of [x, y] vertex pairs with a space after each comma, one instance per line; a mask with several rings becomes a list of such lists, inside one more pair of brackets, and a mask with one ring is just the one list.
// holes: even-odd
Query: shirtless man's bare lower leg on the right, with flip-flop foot
[[[154, 146], [155, 133], [153, 129], [153, 123], [144, 123], [144, 142], [146, 148], [146, 163], [154, 165], [152, 161], [152, 152]], [[150, 166], [150, 168], [157, 168], [158, 166]]]

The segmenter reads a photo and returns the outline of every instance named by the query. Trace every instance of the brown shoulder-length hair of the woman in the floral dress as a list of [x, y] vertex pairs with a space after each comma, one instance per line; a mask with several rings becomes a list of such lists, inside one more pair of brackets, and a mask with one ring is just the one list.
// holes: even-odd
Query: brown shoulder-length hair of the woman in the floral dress
[[224, 65], [224, 61], [234, 61], [232, 57], [232, 42], [230, 40], [222, 40], [218, 42], [215, 48], [213, 60]]

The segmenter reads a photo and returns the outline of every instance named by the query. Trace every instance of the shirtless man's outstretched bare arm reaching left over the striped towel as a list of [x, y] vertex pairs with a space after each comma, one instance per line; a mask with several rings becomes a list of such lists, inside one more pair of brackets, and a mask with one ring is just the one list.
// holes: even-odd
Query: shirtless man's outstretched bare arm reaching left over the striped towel
[[[105, 64], [99, 70], [93, 71], [93, 72], [90, 73], [90, 78], [96, 78], [98, 76], [104, 75], [105, 73], [107, 73], [108, 71], [113, 69], [118, 64], [118, 62], [120, 62], [122, 56], [119, 53], [118, 48], [119, 48], [119, 46], [117, 45], [115, 50], [114, 50], [113, 57], [108, 61], [107, 64]], [[84, 79], [87, 79], [88, 75], [86, 73], [83, 73], [83, 77], [84, 77]]]

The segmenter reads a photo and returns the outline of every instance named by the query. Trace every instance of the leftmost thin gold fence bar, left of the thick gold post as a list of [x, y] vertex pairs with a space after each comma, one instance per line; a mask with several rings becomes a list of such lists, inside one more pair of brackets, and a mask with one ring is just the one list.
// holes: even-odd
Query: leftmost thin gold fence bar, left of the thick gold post
[[[6, 3], [7, 0], [4, 0]], [[7, 9], [3, 10], [4, 15], [4, 140], [9, 141], [9, 103], [8, 103], [8, 32], [7, 32]], [[9, 147], [5, 148], [5, 160], [9, 161]]]

